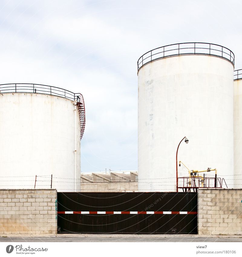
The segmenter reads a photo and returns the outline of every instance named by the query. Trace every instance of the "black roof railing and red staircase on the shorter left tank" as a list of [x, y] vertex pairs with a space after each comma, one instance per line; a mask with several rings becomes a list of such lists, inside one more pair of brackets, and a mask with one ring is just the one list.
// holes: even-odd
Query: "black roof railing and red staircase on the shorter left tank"
[[80, 139], [83, 137], [86, 116], [85, 116], [85, 104], [82, 94], [73, 93], [69, 90], [53, 87], [41, 84], [30, 83], [12, 83], [12, 84], [0, 84], [0, 94], [6, 93], [32, 93], [32, 94], [47, 94], [52, 96], [63, 97], [68, 100], [77, 101], [79, 116], [80, 116]]

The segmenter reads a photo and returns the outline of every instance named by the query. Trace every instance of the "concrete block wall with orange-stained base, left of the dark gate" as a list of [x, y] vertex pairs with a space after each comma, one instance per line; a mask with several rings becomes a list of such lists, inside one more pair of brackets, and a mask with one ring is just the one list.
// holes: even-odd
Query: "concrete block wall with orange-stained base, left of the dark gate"
[[0, 189], [0, 234], [57, 234], [55, 189]]

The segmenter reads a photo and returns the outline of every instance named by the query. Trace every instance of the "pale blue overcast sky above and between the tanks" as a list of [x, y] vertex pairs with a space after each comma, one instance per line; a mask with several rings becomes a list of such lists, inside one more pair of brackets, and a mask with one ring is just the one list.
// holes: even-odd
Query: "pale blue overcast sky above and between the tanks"
[[0, 84], [83, 94], [81, 170], [137, 170], [137, 61], [167, 44], [208, 42], [242, 68], [242, 1], [4, 1]]

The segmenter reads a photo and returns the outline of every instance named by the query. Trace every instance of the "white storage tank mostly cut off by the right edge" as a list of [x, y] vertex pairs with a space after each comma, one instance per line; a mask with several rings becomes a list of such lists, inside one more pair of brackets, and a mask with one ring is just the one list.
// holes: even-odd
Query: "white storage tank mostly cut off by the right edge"
[[234, 187], [242, 184], [242, 70], [234, 71]]

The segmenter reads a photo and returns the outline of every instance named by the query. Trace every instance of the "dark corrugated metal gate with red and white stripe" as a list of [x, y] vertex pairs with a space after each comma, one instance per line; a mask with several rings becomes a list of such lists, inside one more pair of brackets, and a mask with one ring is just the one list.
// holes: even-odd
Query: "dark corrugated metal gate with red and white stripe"
[[57, 193], [58, 233], [197, 234], [197, 193]]

